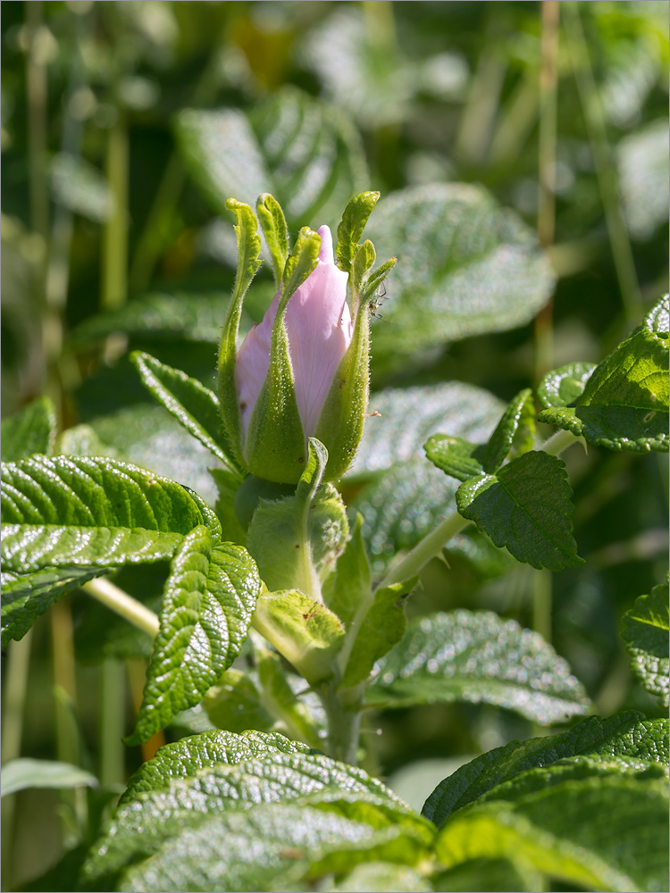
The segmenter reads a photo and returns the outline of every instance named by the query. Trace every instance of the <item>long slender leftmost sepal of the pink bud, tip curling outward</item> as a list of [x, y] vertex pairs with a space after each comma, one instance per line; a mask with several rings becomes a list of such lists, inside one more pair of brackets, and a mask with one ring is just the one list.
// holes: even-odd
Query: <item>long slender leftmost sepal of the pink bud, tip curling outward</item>
[[219, 343], [218, 392], [223, 418], [223, 427], [230, 443], [230, 448], [237, 461], [244, 466], [242, 455], [242, 426], [239, 415], [238, 390], [235, 386], [235, 359], [239, 332], [239, 318], [242, 313], [242, 302], [247, 289], [260, 267], [261, 239], [257, 234], [258, 223], [255, 214], [248, 204], [229, 198], [226, 202], [229, 211], [235, 214], [237, 225], [234, 227], [238, 238], [238, 270], [226, 320], [223, 323], [221, 341]]

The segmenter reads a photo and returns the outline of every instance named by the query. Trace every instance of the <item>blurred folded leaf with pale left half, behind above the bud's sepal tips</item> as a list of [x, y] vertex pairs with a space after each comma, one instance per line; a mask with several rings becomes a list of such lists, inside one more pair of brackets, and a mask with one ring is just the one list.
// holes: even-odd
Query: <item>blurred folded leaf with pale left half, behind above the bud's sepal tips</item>
[[275, 91], [248, 116], [187, 109], [176, 133], [188, 170], [218, 213], [228, 196], [253, 205], [270, 192], [290, 230], [334, 227], [367, 185], [361, 138], [347, 116], [293, 87]]

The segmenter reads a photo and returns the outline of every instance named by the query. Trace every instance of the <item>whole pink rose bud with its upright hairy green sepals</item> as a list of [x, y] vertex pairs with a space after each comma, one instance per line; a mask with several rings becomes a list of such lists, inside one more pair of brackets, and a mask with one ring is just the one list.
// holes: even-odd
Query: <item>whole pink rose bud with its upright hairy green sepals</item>
[[230, 450], [256, 478], [297, 484], [309, 438], [327, 449], [324, 480], [339, 479], [354, 459], [368, 396], [367, 307], [395, 263], [372, 271], [372, 243], [357, 244], [378, 197], [361, 193], [348, 204], [338, 227], [337, 264], [327, 226], [318, 235], [303, 227], [289, 254], [280, 205], [259, 197], [278, 291], [239, 351], [242, 302], [260, 265], [261, 243], [251, 208], [227, 203], [237, 218], [239, 261], [219, 348], [219, 398]]

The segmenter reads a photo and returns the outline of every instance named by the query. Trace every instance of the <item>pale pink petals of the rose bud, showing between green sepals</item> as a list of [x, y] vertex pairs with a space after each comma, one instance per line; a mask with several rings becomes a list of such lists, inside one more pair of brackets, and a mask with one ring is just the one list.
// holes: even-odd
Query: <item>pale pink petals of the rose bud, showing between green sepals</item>
[[[296, 402], [305, 439], [316, 431], [322, 407], [353, 338], [347, 303], [348, 273], [335, 265], [331, 230], [319, 230], [321, 251], [316, 269], [290, 297], [284, 321], [289, 339]], [[242, 438], [247, 438], [256, 400], [270, 369], [272, 325], [280, 303], [274, 296], [263, 321], [239, 348], [235, 383], [239, 396]]]

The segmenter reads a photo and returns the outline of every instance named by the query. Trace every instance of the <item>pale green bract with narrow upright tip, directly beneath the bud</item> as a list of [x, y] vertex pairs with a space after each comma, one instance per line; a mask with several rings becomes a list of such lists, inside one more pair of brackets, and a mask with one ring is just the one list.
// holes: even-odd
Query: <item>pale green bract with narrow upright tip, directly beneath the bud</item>
[[321, 582], [344, 550], [348, 520], [331, 484], [323, 484], [328, 452], [309, 439], [309, 459], [294, 496], [261, 499], [247, 531], [247, 548], [265, 585], [301, 589], [322, 600]]

